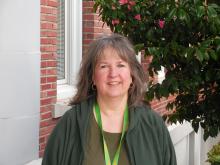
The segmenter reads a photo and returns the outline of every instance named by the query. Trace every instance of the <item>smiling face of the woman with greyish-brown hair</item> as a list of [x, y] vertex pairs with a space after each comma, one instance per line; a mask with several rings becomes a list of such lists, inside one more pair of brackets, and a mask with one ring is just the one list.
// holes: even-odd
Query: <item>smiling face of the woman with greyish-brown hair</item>
[[132, 83], [129, 64], [113, 48], [106, 48], [95, 66], [93, 83], [101, 98], [128, 97]]

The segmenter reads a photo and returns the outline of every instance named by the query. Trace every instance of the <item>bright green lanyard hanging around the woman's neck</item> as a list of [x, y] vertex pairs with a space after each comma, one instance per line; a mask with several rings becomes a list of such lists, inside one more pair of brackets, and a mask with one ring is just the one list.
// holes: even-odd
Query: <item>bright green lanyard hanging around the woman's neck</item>
[[108, 147], [107, 147], [107, 144], [106, 144], [106, 141], [105, 141], [105, 138], [104, 138], [104, 133], [103, 133], [103, 129], [102, 129], [101, 113], [100, 113], [100, 108], [99, 108], [98, 103], [95, 103], [95, 107], [94, 107], [93, 111], [95, 111], [96, 121], [97, 121], [97, 123], [98, 123], [98, 125], [99, 125], [99, 127], [101, 129], [101, 133], [102, 133], [103, 148], [104, 148], [104, 155], [105, 155], [105, 164], [106, 165], [118, 165], [118, 160], [119, 160], [122, 140], [123, 140], [123, 137], [125, 135], [125, 131], [126, 131], [127, 127], [128, 127], [128, 106], [126, 105], [126, 108], [125, 108], [122, 134], [121, 134], [120, 142], [119, 142], [118, 148], [117, 148], [117, 150], [115, 152], [115, 156], [114, 156], [112, 162], [111, 162], [111, 159], [110, 159], [110, 156], [109, 156]]

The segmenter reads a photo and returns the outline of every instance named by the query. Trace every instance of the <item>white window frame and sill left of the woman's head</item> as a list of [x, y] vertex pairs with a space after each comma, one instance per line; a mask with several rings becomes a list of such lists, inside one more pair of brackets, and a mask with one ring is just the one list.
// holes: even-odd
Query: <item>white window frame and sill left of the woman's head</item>
[[76, 78], [82, 60], [82, 0], [65, 3], [65, 53], [67, 54], [66, 82], [57, 81], [57, 103], [53, 117], [60, 117], [69, 109], [67, 102], [76, 92]]

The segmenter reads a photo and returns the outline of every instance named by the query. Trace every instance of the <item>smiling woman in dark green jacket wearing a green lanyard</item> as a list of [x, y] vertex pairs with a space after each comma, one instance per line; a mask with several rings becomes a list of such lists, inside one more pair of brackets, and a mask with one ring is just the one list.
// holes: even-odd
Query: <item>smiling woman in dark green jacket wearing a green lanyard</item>
[[176, 165], [163, 120], [142, 101], [144, 82], [125, 37], [95, 40], [83, 56], [72, 109], [52, 132], [42, 165]]

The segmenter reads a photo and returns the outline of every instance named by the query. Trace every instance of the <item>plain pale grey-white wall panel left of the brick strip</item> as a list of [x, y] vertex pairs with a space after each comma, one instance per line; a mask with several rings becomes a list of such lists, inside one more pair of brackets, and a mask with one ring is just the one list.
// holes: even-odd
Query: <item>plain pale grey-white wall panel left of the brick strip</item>
[[0, 1], [0, 165], [38, 158], [40, 1]]

